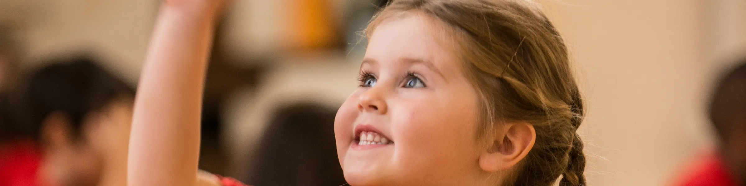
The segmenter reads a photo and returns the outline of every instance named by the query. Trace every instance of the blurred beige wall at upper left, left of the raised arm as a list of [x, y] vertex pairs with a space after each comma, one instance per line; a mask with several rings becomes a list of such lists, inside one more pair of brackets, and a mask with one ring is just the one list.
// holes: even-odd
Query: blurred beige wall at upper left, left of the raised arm
[[34, 68], [69, 52], [97, 54], [107, 68], [137, 83], [159, 1], [2, 0], [0, 22], [19, 28]]

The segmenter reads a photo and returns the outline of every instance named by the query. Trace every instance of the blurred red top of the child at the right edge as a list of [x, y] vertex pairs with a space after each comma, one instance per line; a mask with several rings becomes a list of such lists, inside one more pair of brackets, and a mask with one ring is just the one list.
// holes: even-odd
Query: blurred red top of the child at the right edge
[[674, 186], [738, 186], [717, 153], [703, 155]]

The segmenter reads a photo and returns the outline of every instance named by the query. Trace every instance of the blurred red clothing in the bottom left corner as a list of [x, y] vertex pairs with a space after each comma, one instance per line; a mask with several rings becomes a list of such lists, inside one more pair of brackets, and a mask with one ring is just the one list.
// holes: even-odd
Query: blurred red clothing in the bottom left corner
[[0, 145], [0, 186], [40, 186], [40, 150], [31, 140]]

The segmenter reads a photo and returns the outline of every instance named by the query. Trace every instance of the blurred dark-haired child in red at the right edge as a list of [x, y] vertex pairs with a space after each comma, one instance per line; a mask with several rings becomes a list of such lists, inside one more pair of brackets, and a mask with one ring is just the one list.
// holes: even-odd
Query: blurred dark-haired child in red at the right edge
[[698, 160], [681, 186], [736, 186], [746, 183], [746, 59], [725, 74], [712, 92], [709, 118], [718, 149]]

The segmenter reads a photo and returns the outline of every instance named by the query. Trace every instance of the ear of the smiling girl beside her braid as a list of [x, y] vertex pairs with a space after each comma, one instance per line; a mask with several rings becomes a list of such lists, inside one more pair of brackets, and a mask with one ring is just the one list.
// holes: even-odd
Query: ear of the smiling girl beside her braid
[[479, 158], [480, 168], [487, 172], [507, 170], [518, 164], [536, 141], [536, 130], [527, 122], [504, 124], [497, 130], [492, 144]]

